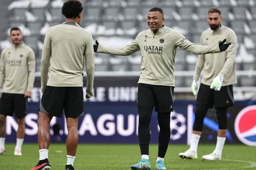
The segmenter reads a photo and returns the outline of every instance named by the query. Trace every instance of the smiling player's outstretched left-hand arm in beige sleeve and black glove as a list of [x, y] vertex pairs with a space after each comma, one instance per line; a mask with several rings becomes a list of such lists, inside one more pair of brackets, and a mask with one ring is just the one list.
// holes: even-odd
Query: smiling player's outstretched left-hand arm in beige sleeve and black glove
[[104, 47], [96, 40], [96, 45], [93, 45], [94, 52], [106, 53], [114, 55], [131, 55], [140, 50], [137, 39], [134, 39], [129, 45], [125, 47]]

